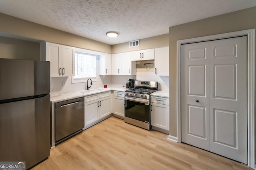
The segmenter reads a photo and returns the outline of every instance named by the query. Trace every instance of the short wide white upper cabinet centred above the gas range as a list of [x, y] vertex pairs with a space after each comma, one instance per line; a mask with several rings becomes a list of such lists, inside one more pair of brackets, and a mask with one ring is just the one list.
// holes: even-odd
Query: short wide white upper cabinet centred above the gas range
[[131, 61], [154, 60], [154, 49], [132, 51], [131, 55]]

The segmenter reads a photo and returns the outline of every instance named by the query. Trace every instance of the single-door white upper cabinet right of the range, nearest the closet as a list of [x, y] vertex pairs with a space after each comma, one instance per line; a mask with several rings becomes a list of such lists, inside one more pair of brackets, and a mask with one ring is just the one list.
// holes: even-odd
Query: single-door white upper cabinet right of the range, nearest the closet
[[155, 49], [155, 74], [169, 76], [169, 47]]

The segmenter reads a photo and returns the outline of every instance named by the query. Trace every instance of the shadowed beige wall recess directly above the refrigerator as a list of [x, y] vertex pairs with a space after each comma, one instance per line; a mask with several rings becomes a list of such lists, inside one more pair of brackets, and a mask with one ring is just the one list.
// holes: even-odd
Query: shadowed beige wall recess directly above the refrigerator
[[40, 43], [0, 37], [0, 58], [40, 60]]

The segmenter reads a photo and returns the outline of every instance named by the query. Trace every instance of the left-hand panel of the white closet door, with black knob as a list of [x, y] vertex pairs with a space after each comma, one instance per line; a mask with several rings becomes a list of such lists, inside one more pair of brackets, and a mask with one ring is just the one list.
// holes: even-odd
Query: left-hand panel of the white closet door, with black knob
[[209, 76], [205, 43], [182, 45], [182, 142], [210, 150]]

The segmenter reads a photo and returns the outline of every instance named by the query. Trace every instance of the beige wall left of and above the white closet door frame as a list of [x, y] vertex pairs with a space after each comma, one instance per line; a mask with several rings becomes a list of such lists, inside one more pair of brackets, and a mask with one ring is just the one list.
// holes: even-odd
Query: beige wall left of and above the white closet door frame
[[177, 137], [177, 40], [256, 28], [256, 7], [169, 28], [170, 135]]

